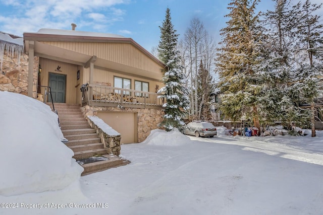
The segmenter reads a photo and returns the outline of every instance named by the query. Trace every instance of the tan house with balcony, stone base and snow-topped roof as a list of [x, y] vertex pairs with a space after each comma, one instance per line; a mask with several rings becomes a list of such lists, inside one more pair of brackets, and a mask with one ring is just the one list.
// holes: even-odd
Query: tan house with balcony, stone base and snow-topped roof
[[131, 38], [75, 27], [24, 33], [25, 94], [80, 104], [84, 115], [96, 115], [121, 133], [121, 144], [143, 141], [162, 120], [156, 92], [165, 65]]

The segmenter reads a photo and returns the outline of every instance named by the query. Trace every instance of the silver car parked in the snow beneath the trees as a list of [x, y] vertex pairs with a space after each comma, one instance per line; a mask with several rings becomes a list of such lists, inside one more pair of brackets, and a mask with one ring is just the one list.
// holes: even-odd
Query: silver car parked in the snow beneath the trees
[[217, 128], [209, 122], [204, 121], [193, 121], [185, 125], [181, 129], [182, 133], [199, 136], [209, 136], [213, 137], [217, 135]]

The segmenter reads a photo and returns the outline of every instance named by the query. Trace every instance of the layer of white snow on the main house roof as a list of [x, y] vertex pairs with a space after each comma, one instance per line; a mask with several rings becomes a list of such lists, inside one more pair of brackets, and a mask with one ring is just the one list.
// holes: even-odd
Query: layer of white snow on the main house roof
[[66, 35], [66, 36], [126, 38], [124, 36], [117, 35], [117, 34], [98, 33], [98, 32], [87, 32], [87, 31], [74, 31], [74, 30], [62, 30], [62, 29], [49, 29], [49, 28], [41, 28], [35, 34], [52, 34], [52, 35]]

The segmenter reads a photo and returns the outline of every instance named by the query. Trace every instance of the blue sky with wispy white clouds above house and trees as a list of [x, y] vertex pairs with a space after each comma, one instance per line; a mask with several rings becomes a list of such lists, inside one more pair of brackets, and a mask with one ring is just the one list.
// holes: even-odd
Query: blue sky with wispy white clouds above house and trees
[[[320, 2], [321, 0], [312, 0]], [[181, 36], [192, 18], [198, 18], [215, 41], [230, 0], [0, 0], [0, 31], [23, 36], [41, 28], [71, 29], [131, 37], [148, 51], [158, 45], [158, 26], [171, 9], [174, 28]], [[273, 10], [272, 0], [262, 0], [258, 9]]]

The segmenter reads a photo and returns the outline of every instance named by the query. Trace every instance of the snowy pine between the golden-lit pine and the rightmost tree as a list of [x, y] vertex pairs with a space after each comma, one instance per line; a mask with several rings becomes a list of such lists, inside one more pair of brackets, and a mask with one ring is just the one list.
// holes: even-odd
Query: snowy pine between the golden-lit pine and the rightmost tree
[[[263, 79], [259, 97], [260, 118], [264, 124], [281, 121], [289, 126], [298, 122], [298, 126], [308, 121], [308, 111], [295, 105], [298, 95], [291, 94], [292, 71], [295, 61], [295, 29], [297, 21], [295, 8], [290, 0], [273, 0], [275, 11], [268, 11], [264, 17], [268, 27], [266, 42], [262, 46], [262, 68], [259, 69]], [[295, 97], [296, 96], [296, 97]]]

